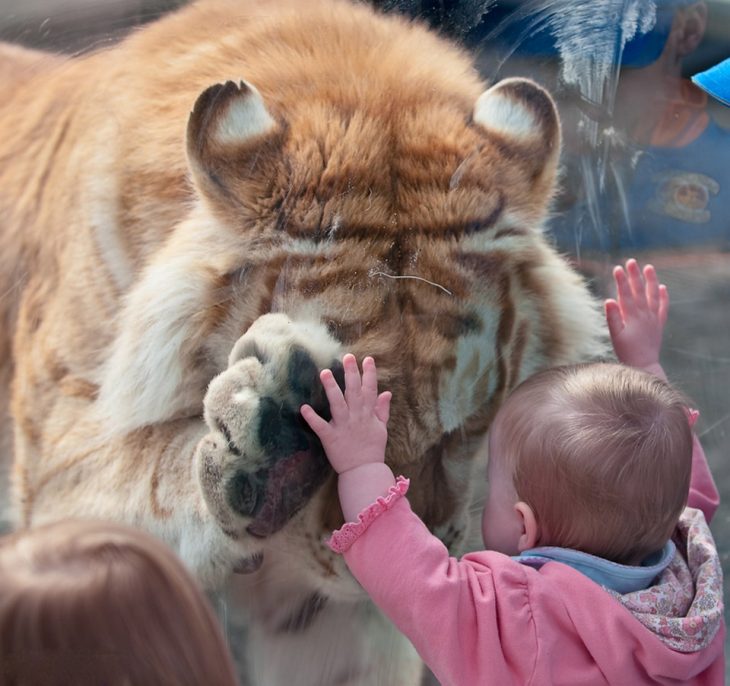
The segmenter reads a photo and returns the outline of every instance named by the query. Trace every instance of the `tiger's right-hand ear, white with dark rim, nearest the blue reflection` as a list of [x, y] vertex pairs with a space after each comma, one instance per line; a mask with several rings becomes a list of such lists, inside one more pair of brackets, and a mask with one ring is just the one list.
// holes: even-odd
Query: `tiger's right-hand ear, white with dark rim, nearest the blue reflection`
[[554, 178], [560, 120], [553, 99], [534, 81], [505, 79], [487, 89], [476, 101], [473, 120], [533, 179]]

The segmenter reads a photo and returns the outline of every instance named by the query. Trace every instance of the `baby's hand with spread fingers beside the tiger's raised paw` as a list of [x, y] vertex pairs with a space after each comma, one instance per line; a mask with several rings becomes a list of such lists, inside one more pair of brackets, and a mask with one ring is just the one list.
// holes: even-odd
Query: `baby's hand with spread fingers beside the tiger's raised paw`
[[332, 420], [325, 421], [309, 405], [302, 405], [302, 417], [319, 436], [332, 467], [342, 474], [363, 464], [385, 461], [390, 415], [389, 391], [378, 395], [375, 361], [366, 357], [362, 363], [362, 380], [357, 360], [349, 353], [342, 358], [345, 368], [345, 394], [332, 372], [320, 374]]

